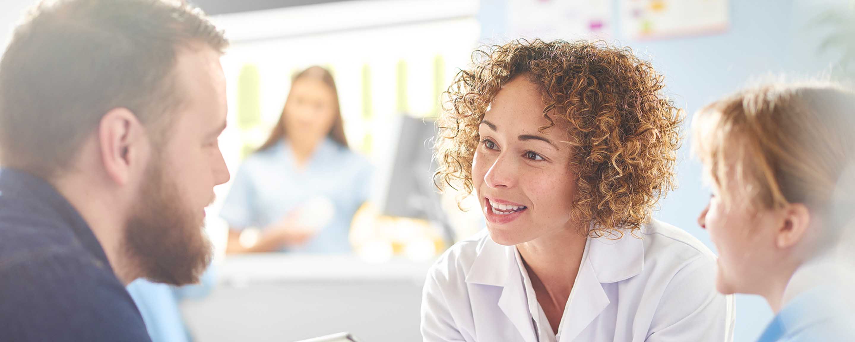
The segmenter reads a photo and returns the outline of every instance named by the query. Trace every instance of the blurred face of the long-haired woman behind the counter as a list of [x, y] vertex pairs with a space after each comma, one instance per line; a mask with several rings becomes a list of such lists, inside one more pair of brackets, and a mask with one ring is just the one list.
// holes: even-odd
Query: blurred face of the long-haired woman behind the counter
[[315, 77], [294, 81], [283, 121], [289, 139], [310, 142], [323, 139], [336, 117], [335, 94], [329, 85]]

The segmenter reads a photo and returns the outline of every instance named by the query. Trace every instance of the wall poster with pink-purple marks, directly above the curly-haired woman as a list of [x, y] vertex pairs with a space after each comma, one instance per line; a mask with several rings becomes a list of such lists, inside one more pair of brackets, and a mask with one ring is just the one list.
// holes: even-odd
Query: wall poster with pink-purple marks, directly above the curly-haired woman
[[573, 40], [610, 39], [611, 1], [603, 0], [510, 0], [510, 38]]

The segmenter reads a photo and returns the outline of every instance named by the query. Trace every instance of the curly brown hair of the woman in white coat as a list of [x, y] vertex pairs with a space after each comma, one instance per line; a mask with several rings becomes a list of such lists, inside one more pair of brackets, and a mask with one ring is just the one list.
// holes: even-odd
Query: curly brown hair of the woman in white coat
[[549, 125], [567, 127], [578, 175], [576, 220], [588, 234], [633, 233], [675, 186], [683, 112], [663, 94], [663, 76], [628, 48], [602, 42], [517, 40], [477, 50], [457, 73], [439, 119], [434, 180], [466, 194], [474, 190], [472, 159], [478, 126], [502, 85], [526, 75], [539, 85]]

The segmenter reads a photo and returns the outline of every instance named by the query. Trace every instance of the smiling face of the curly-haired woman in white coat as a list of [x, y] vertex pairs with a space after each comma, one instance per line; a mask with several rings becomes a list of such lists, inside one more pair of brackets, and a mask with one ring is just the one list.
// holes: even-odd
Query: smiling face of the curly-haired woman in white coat
[[542, 114], [540, 91], [526, 77], [504, 85], [478, 129], [472, 162], [486, 227], [500, 245], [519, 245], [574, 227], [576, 177], [566, 130]]

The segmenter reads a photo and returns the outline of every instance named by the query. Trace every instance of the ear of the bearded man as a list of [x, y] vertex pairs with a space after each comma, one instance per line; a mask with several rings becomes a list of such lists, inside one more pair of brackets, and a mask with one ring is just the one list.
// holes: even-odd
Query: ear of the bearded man
[[144, 126], [129, 109], [110, 109], [98, 124], [97, 137], [109, 179], [126, 185], [150, 153]]

